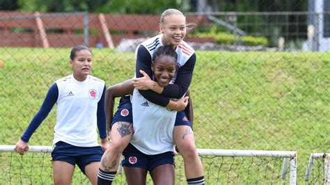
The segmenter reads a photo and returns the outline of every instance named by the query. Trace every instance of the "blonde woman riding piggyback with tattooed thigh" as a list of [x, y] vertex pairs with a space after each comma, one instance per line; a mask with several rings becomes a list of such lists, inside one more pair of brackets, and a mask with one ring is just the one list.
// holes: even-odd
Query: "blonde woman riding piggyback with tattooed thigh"
[[[179, 99], [183, 97], [189, 88], [196, 63], [196, 54], [194, 49], [183, 40], [187, 32], [186, 20], [179, 10], [165, 10], [160, 18], [159, 27], [161, 34], [146, 40], [136, 49], [136, 80], [134, 86], [139, 89], [139, 93], [147, 99], [147, 102], [166, 107], [168, 110], [181, 111], [184, 108], [179, 107], [175, 102], [171, 102], [170, 98]], [[173, 78], [173, 84], [166, 87], [158, 86], [157, 83], [150, 85], [146, 82], [148, 79], [143, 76], [143, 73], [141, 74], [142, 70], [148, 74], [147, 76], [151, 77], [152, 54], [158, 47], [163, 45], [174, 45], [179, 63], [178, 74]], [[125, 132], [122, 132], [123, 129], [125, 129]], [[111, 132], [112, 142], [102, 158], [102, 160], [106, 159], [107, 163], [102, 163], [100, 169], [115, 173], [118, 166], [118, 162], [116, 162], [118, 160], [116, 159], [132, 138], [132, 123], [115, 122], [111, 130], [113, 130]], [[175, 125], [173, 140], [183, 156], [187, 182], [189, 184], [203, 184], [203, 166], [196, 151], [191, 127], [189, 125]]]

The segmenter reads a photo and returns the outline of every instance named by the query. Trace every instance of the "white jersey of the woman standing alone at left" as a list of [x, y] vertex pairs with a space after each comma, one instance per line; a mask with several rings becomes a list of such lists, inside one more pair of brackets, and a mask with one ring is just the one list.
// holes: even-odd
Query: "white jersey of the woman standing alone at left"
[[53, 143], [63, 141], [79, 147], [94, 147], [97, 143], [97, 103], [104, 81], [89, 76], [77, 81], [73, 74], [57, 80], [57, 117]]

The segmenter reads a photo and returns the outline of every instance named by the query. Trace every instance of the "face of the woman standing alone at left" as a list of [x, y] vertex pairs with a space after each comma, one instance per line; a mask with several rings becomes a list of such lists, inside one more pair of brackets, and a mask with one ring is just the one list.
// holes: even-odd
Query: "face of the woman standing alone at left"
[[73, 77], [77, 81], [84, 81], [92, 69], [92, 54], [88, 49], [75, 52], [75, 56], [70, 60]]

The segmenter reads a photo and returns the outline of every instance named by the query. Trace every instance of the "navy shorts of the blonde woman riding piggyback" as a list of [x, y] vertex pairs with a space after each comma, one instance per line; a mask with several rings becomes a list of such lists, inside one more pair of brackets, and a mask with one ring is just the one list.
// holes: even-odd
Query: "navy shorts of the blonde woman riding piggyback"
[[[132, 103], [128, 96], [120, 97], [117, 111], [115, 115], [113, 115], [111, 127], [115, 122], [133, 122]], [[191, 122], [189, 122], [184, 111], [180, 111], [176, 115], [174, 126], [179, 125], [187, 125], [191, 127]]]

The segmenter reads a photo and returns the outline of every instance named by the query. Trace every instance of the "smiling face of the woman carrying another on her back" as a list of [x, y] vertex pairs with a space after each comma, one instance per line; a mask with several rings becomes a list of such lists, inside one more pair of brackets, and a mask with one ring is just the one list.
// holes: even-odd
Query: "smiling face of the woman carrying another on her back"
[[156, 61], [151, 64], [151, 70], [154, 72], [155, 81], [159, 86], [165, 87], [170, 83], [175, 75], [175, 59], [172, 56], [159, 56]]

